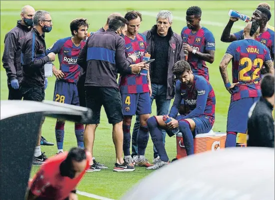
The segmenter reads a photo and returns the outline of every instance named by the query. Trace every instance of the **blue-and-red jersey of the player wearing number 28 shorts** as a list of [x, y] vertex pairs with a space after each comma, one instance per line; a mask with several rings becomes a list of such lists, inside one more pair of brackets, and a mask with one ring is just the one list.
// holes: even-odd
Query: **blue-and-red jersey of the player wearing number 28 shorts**
[[80, 66], [76, 63], [85, 41], [82, 40], [79, 46], [75, 46], [71, 37], [57, 40], [46, 50], [46, 54], [53, 52], [58, 54], [60, 70], [64, 73], [62, 80], [69, 83], [76, 83], [80, 73]]

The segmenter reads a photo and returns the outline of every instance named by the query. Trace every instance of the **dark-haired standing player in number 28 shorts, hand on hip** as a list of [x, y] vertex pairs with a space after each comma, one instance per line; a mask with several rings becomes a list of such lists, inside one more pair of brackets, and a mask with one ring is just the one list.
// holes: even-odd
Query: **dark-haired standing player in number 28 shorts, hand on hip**
[[[49, 54], [53, 52], [58, 54], [60, 70], [53, 66], [53, 73], [56, 76], [53, 100], [60, 103], [79, 105], [76, 82], [80, 73], [80, 66], [76, 63], [81, 49], [85, 45], [87, 37], [88, 23], [86, 19], [75, 19], [70, 23], [72, 37], [66, 37], [57, 40], [46, 50]], [[57, 153], [63, 152], [65, 121], [57, 119], [55, 125], [55, 137], [57, 143]], [[75, 136], [77, 146], [84, 148], [83, 132], [84, 126], [81, 123], [75, 123]]]

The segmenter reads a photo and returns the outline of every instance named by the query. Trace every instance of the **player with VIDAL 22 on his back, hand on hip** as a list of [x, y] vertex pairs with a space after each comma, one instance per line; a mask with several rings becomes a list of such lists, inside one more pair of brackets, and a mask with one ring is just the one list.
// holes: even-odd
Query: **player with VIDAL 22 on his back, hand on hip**
[[[220, 72], [226, 89], [231, 94], [227, 117], [227, 139], [225, 147], [236, 146], [237, 133], [246, 133], [248, 112], [261, 97], [261, 69], [274, 73], [269, 49], [256, 41], [260, 32], [259, 23], [252, 21], [244, 29], [244, 40], [232, 42], [220, 63]], [[232, 60], [233, 83], [228, 79], [227, 66]]]

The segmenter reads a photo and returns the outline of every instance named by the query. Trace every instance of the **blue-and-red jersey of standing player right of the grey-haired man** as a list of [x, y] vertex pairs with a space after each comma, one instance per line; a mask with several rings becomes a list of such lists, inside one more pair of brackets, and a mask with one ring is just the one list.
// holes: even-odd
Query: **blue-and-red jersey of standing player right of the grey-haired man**
[[[189, 44], [193, 49], [205, 53], [206, 50], [215, 51], [215, 38], [210, 30], [202, 27], [197, 32], [192, 32], [187, 26], [182, 29], [181, 37], [183, 43]], [[201, 60], [192, 52], [188, 54], [188, 63], [194, 75], [203, 76], [209, 81], [208, 68], [204, 60]]]

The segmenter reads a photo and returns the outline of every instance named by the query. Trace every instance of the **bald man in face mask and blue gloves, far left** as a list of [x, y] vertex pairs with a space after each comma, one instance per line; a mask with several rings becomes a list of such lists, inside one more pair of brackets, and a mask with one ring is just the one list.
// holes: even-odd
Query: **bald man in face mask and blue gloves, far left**
[[7, 76], [8, 100], [21, 100], [19, 82], [22, 79], [21, 44], [23, 38], [32, 28], [34, 8], [25, 5], [21, 10], [21, 20], [5, 35], [4, 52], [2, 57], [3, 68]]

